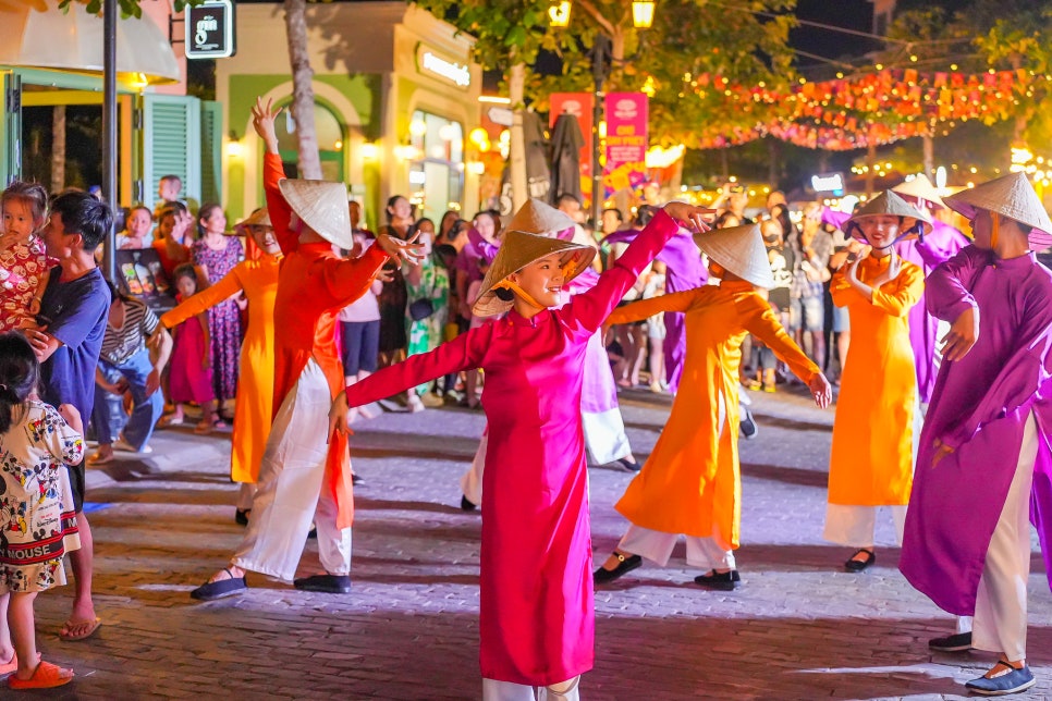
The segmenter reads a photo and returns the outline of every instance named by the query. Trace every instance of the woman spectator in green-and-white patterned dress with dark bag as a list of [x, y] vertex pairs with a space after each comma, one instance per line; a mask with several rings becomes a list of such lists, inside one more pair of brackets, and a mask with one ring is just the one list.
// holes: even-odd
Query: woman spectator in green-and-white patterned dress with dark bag
[[[432, 248], [435, 222], [421, 219], [414, 224], [413, 230], [419, 236], [417, 243], [424, 245], [424, 259], [418, 266], [406, 263], [402, 268], [408, 300], [405, 306], [405, 334], [408, 337], [406, 355], [437, 348], [442, 343], [449, 316], [450, 274]], [[426, 307], [424, 300], [431, 303], [431, 313], [426, 317], [421, 316], [427, 311], [426, 308], [421, 309], [421, 306]], [[429, 384], [425, 382], [415, 390], [409, 390], [407, 404], [411, 411], [421, 411], [425, 408], [420, 397], [427, 393]]]

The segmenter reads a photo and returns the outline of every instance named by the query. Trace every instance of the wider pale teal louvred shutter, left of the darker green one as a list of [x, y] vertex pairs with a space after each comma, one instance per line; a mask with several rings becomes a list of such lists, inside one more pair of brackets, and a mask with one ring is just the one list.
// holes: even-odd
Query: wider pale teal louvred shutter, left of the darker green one
[[183, 199], [201, 201], [201, 108], [196, 97], [143, 96], [143, 199], [152, 208], [162, 175], [183, 180]]

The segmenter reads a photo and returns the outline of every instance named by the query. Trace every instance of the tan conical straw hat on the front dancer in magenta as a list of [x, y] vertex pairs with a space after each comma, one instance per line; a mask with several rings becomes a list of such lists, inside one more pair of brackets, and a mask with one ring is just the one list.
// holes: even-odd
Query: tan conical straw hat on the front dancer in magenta
[[497, 296], [493, 286], [513, 272], [518, 272], [535, 260], [540, 260], [552, 254], [562, 254], [559, 263], [565, 266], [571, 260], [573, 268], [566, 272], [566, 282], [576, 278], [591, 265], [596, 257], [596, 249], [591, 246], [574, 244], [560, 238], [529, 234], [517, 230], [510, 230], [504, 234], [504, 241], [497, 251], [497, 258], [486, 272], [482, 286], [479, 288], [478, 299], [472, 311], [476, 317], [492, 317], [512, 308], [511, 302], [504, 302]]

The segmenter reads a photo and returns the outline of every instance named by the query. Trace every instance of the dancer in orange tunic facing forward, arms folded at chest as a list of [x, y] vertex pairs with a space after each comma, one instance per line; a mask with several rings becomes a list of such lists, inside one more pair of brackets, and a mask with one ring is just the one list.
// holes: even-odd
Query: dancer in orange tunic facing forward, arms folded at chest
[[873, 564], [877, 507], [889, 506], [902, 542], [913, 484], [917, 373], [909, 343], [909, 310], [925, 291], [920, 268], [895, 244], [931, 231], [928, 216], [889, 190], [871, 199], [844, 231], [869, 246], [836, 271], [833, 304], [851, 315], [852, 350], [833, 421], [829, 505], [822, 537], [857, 549], [847, 571]]

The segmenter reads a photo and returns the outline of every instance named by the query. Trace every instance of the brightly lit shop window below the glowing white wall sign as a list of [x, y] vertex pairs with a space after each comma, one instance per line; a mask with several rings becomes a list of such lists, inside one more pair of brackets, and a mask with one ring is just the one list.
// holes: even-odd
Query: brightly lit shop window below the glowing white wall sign
[[438, 221], [464, 198], [464, 127], [437, 114], [413, 112], [409, 122], [409, 201], [420, 217]]

